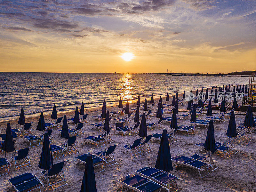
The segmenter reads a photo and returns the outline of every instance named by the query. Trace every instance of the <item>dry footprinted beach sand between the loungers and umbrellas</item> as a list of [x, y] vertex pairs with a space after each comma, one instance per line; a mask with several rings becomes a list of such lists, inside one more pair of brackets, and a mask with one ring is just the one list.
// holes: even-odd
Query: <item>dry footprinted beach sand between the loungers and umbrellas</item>
[[[181, 96], [180, 96], [181, 97]], [[141, 98], [141, 101], [145, 98]], [[149, 99], [149, 98], [148, 98]], [[170, 95], [171, 99], [171, 95]], [[155, 103], [158, 100], [155, 99]], [[163, 102], [166, 103], [163, 98]], [[171, 101], [170, 101], [171, 102]], [[78, 106], [80, 107], [80, 106]], [[135, 104], [130, 104], [130, 108], [135, 108]], [[184, 107], [179, 108], [187, 108], [187, 102]], [[58, 107], [57, 107], [58, 109]], [[84, 135], [79, 135], [76, 140], [76, 145], [79, 153], [73, 155], [65, 154], [64, 157], [56, 159], [54, 163], [69, 160], [68, 164], [64, 168], [65, 177], [68, 183], [68, 186], [56, 189], [55, 191], [69, 191], [75, 192], [80, 191], [81, 182], [84, 174], [84, 164], [77, 164], [75, 159], [76, 156], [85, 154], [85, 153], [95, 153], [104, 149], [104, 147], [97, 149], [95, 144], [84, 143], [83, 137], [91, 136], [91, 135], [99, 135], [98, 129], [89, 129], [89, 124], [95, 123], [97, 121], [92, 120], [93, 115], [100, 114], [101, 108], [91, 109], [90, 111], [86, 110], [85, 113], [89, 113], [87, 117], [88, 123], [84, 125]], [[107, 107], [109, 111], [118, 111], [117, 107]], [[155, 110], [156, 111], [156, 108]], [[206, 111], [205, 111], [206, 112]], [[140, 111], [142, 114], [143, 111]], [[180, 114], [181, 112], [179, 112]], [[74, 112], [66, 113], [67, 117], [71, 118], [74, 116]], [[58, 116], [62, 116], [62, 114], [58, 114]], [[170, 116], [170, 114], [165, 114], [164, 116]], [[122, 116], [124, 117], [124, 116]], [[113, 117], [114, 118], [114, 117]], [[112, 119], [113, 119], [112, 118]], [[26, 122], [33, 122], [33, 133], [39, 135], [40, 132], [36, 130], [36, 125], [38, 123], [39, 117], [31, 117], [26, 118]], [[50, 116], [45, 116], [45, 122], [51, 122]], [[152, 117], [151, 119], [147, 119], [147, 123], [155, 122], [156, 117]], [[236, 116], [236, 124], [244, 121], [244, 116]], [[178, 122], [178, 125], [187, 124], [189, 120], [181, 120]], [[17, 124], [17, 120], [10, 121], [12, 128], [21, 128], [20, 125]], [[128, 125], [132, 125], [133, 122], [130, 122]], [[110, 125], [114, 129], [113, 120], [111, 120]], [[1, 133], [5, 133], [6, 122], [0, 123]], [[163, 124], [164, 128], [168, 128], [170, 123]], [[73, 124], [68, 124], [70, 129], [74, 128]], [[228, 120], [222, 124], [214, 123], [214, 131], [215, 131], [215, 141], [223, 142], [226, 138], [226, 130], [228, 127]], [[207, 130], [205, 128], [198, 128], [198, 133], [193, 136], [188, 136], [187, 133], [177, 132], [178, 142], [170, 144], [171, 156], [175, 155], [184, 155], [191, 156], [198, 153], [198, 148], [195, 146], [198, 142], [204, 142]], [[103, 131], [101, 131], [103, 132]], [[101, 133], [100, 132], [100, 133]], [[148, 135], [152, 133], [162, 133], [162, 127], [157, 130], [150, 131], [148, 129]], [[98, 192], [112, 192], [112, 191], [122, 191], [122, 186], [116, 182], [117, 179], [134, 173], [135, 170], [140, 169], [144, 166], [155, 166], [156, 156], [159, 148], [160, 141], [154, 141], [150, 143], [153, 152], [149, 152], [144, 156], [140, 157], [132, 157], [128, 153], [122, 153], [123, 145], [129, 144], [134, 139], [140, 138], [138, 135], [132, 135], [124, 137], [122, 134], [113, 134], [113, 130], [111, 130], [111, 137], [115, 142], [111, 144], [107, 144], [107, 146], [118, 143], [119, 146], [115, 150], [115, 157], [118, 164], [112, 165], [106, 169], [106, 171], [100, 172], [96, 174], [96, 185]], [[64, 139], [61, 139], [59, 136], [59, 132], [54, 130], [52, 133], [53, 144], [60, 145], [64, 143]], [[256, 191], [255, 184], [255, 167], [256, 167], [256, 154], [255, 154], [255, 134], [253, 134], [252, 142], [247, 145], [236, 144], [236, 149], [239, 151], [236, 155], [232, 154], [231, 157], [225, 159], [223, 156], [219, 154], [213, 155], [214, 162], [219, 166], [219, 169], [214, 171], [209, 176], [203, 178], [201, 180], [199, 178], [199, 174], [195, 169], [185, 167], [185, 166], [173, 166], [173, 171], [171, 172], [173, 175], [180, 177], [183, 182], [177, 181], [180, 191]], [[52, 144], [52, 143], [51, 143]], [[22, 138], [18, 138], [15, 143], [15, 148], [25, 148], [29, 147], [28, 142], [24, 142]], [[9, 184], [8, 179], [18, 176], [25, 172], [34, 173], [36, 176], [41, 177], [41, 170], [38, 168], [38, 162], [41, 154], [41, 147], [36, 146], [33, 147], [29, 153], [31, 167], [25, 167], [20, 170], [10, 168], [10, 174], [6, 174], [0, 176], [0, 191], [14, 191], [12, 186]], [[201, 153], [202, 154], [202, 153]], [[11, 161], [11, 153], [7, 153], [6, 158]], [[1, 154], [0, 157], [5, 157], [5, 154]], [[101, 171], [102, 168], [100, 166], [95, 167], [95, 172]], [[43, 188], [42, 188], [43, 189]], [[45, 188], [46, 189], [46, 188]], [[45, 190], [44, 189], [44, 190]]]

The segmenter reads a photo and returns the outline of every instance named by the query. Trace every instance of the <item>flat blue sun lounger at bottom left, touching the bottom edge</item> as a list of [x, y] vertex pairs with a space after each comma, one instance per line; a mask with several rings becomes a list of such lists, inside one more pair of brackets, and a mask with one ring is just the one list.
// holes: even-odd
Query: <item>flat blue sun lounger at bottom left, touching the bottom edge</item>
[[31, 188], [32, 190], [39, 188], [41, 192], [40, 185], [44, 187], [44, 183], [36, 175], [29, 172], [9, 179], [9, 183], [17, 192], [28, 191]]

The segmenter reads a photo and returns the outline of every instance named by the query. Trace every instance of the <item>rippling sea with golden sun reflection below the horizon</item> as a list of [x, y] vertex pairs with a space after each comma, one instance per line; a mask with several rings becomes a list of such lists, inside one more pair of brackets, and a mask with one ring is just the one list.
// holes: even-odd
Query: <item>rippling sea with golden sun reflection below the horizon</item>
[[25, 116], [37, 116], [41, 111], [51, 114], [56, 104], [57, 112], [106, 105], [118, 105], [145, 98], [172, 96], [176, 92], [195, 91], [219, 85], [248, 84], [249, 77], [241, 76], [155, 76], [132, 73], [21, 73], [0, 72], [0, 122], [19, 118], [20, 109]]

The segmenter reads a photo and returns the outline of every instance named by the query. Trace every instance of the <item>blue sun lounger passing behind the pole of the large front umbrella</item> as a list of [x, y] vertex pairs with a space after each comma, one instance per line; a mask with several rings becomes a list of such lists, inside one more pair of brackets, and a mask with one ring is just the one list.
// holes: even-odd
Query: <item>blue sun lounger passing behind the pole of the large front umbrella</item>
[[[153, 168], [153, 167], [143, 167], [139, 170], [135, 171], [137, 174], [139, 174], [142, 177], [146, 177], [152, 181], [155, 181], [162, 187], [164, 187], [168, 191], [168, 173], [164, 171], [160, 171], [159, 169]], [[177, 185], [176, 179], [178, 177], [169, 174], [169, 181], [170, 181], [170, 188], [172, 188], [172, 184], [176, 190], [174, 192], [179, 191], [179, 187]]]

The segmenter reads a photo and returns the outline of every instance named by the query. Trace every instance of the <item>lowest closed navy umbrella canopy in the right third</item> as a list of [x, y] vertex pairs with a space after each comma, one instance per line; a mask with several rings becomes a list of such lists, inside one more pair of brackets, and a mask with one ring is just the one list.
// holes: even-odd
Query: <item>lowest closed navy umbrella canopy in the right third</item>
[[214, 127], [213, 120], [211, 119], [209, 122], [206, 139], [204, 142], [204, 149], [207, 151], [215, 152], [215, 139], [214, 139]]

